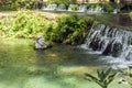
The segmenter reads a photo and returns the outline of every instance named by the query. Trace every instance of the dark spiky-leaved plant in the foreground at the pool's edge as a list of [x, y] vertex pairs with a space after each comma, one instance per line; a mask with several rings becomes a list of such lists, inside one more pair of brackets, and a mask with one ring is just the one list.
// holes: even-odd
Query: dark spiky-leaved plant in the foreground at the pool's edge
[[105, 70], [97, 70], [98, 77], [90, 74], [85, 74], [88, 80], [92, 80], [98, 84], [101, 88], [108, 88], [108, 86], [113, 81], [117, 73], [112, 73], [111, 68]]

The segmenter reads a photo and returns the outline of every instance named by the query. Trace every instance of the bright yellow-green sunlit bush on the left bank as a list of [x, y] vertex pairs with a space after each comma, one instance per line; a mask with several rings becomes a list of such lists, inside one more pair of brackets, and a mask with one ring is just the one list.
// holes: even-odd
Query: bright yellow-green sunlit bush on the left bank
[[19, 11], [15, 16], [4, 18], [1, 29], [9, 37], [35, 37], [44, 33], [45, 24], [44, 18], [33, 15], [30, 11]]

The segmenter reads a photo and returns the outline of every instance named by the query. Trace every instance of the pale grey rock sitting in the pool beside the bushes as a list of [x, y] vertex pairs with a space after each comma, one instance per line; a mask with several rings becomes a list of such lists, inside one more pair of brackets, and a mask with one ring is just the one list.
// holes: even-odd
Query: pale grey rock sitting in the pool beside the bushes
[[35, 42], [35, 50], [45, 50], [48, 47], [48, 44], [45, 42], [43, 36], [38, 36]]

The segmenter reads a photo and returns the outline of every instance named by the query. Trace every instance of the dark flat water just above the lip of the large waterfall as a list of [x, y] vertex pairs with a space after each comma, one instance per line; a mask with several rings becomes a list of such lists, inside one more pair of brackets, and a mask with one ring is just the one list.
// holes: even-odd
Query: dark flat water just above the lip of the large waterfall
[[132, 19], [129, 14], [96, 14], [95, 18], [113, 26], [132, 30]]

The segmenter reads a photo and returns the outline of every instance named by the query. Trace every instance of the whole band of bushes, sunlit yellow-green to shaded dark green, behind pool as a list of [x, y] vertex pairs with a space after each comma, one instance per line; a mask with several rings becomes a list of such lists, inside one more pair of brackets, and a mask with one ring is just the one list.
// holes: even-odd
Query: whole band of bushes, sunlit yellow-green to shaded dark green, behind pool
[[15, 16], [3, 18], [0, 30], [8, 37], [36, 37], [44, 35], [56, 43], [80, 44], [94, 23], [91, 18], [59, 14], [42, 15], [33, 11], [19, 11]]

